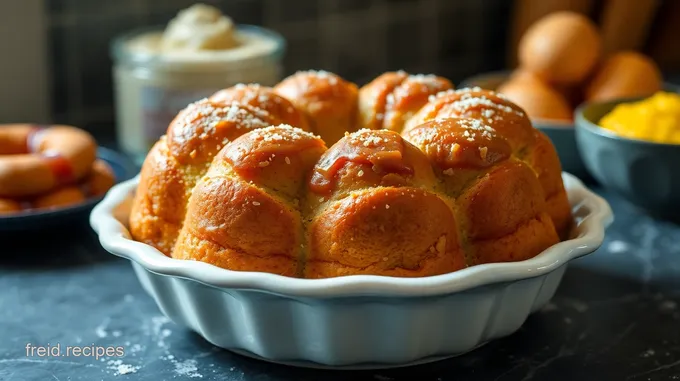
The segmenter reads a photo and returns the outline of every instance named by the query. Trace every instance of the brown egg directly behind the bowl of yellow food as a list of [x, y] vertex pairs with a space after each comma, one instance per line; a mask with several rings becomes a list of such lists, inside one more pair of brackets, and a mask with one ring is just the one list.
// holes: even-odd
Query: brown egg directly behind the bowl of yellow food
[[607, 58], [586, 88], [587, 101], [644, 97], [661, 90], [661, 71], [654, 61], [637, 52], [619, 52]]

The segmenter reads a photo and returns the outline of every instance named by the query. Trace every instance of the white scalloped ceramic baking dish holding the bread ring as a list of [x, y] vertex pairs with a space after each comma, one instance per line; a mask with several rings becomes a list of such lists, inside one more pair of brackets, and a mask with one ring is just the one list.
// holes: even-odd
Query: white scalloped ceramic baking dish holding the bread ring
[[90, 222], [106, 250], [132, 261], [164, 314], [214, 345], [300, 366], [393, 367], [515, 332], [552, 298], [567, 262], [601, 245], [611, 208], [575, 177], [563, 179], [574, 238], [526, 261], [425, 278], [294, 279], [166, 257], [126, 228], [138, 178], [114, 187]]

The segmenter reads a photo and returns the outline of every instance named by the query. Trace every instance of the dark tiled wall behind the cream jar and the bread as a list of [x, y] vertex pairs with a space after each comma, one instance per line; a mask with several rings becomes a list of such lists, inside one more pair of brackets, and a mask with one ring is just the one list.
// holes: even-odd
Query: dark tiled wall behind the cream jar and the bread
[[[49, 12], [53, 119], [112, 136], [109, 44], [165, 24], [196, 0], [44, 0]], [[238, 23], [288, 40], [287, 73], [322, 68], [364, 83], [386, 70], [457, 82], [503, 66], [507, 0], [203, 0]]]

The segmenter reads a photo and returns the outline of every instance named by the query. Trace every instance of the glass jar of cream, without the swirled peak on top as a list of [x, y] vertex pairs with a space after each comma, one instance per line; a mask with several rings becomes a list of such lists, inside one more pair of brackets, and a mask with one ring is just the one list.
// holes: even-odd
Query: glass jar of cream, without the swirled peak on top
[[271, 30], [239, 25], [239, 46], [200, 52], [154, 50], [162, 33], [138, 30], [112, 44], [116, 135], [138, 164], [189, 103], [238, 83], [273, 86], [282, 79], [285, 41]]

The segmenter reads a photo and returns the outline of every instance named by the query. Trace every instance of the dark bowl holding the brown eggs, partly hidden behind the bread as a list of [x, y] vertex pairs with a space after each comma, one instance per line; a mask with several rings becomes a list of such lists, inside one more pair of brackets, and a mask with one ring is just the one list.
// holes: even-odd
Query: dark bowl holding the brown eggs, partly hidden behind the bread
[[[509, 71], [480, 74], [464, 80], [458, 87], [478, 86], [487, 90], [496, 90], [509, 76]], [[532, 123], [552, 141], [562, 163], [563, 171], [569, 172], [584, 181], [592, 180], [576, 145], [573, 123], [557, 120], [532, 120]]]

